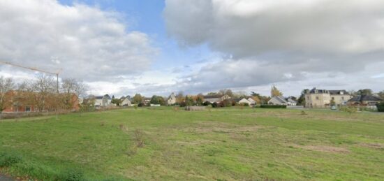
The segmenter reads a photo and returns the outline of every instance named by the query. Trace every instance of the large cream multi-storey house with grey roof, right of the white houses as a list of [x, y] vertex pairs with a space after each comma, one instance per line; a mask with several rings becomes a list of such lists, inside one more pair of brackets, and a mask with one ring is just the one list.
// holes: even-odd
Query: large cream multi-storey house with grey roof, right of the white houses
[[325, 90], [313, 88], [304, 95], [305, 107], [307, 108], [327, 108], [331, 104], [342, 106], [352, 98], [346, 90]]

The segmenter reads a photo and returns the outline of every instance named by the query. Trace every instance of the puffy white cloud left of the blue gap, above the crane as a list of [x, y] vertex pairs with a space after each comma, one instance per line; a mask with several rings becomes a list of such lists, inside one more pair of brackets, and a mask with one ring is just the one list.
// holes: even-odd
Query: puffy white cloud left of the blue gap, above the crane
[[87, 81], [149, 69], [157, 50], [121, 15], [54, 0], [0, 1], [0, 59]]

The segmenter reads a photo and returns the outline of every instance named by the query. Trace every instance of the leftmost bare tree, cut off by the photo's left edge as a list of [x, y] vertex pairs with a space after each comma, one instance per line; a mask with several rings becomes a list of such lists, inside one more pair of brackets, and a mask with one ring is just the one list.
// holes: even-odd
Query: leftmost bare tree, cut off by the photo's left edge
[[[12, 78], [0, 77], [0, 114], [10, 106], [10, 97], [7, 94], [15, 88]], [[0, 117], [1, 118], [1, 117]]]

